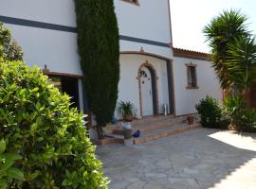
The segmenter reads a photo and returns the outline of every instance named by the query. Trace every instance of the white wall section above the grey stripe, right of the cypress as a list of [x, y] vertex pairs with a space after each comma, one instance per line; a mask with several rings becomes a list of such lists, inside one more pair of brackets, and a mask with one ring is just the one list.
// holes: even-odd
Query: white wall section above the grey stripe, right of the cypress
[[170, 43], [168, 0], [139, 0], [139, 6], [115, 0], [122, 35]]

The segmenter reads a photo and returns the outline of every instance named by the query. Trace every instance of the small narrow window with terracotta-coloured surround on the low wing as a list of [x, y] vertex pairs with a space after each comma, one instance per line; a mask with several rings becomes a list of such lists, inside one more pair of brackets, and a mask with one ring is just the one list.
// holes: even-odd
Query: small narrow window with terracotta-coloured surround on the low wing
[[186, 64], [187, 66], [187, 89], [198, 89], [196, 77], [196, 64]]

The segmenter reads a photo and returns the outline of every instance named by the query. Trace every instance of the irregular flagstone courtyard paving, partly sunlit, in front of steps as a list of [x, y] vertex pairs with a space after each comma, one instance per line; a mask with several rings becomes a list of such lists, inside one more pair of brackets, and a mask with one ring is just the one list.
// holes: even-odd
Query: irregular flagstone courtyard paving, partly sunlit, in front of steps
[[137, 146], [99, 146], [110, 189], [255, 189], [256, 134], [195, 129]]

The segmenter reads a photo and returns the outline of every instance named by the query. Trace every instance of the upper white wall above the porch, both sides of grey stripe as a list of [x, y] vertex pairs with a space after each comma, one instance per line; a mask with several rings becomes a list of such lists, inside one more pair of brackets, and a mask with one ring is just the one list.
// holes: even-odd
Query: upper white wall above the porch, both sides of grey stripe
[[[171, 43], [168, 0], [139, 0], [139, 6], [115, 0], [120, 35]], [[171, 59], [171, 48], [157, 45], [120, 41], [120, 51], [139, 51], [161, 55]]]

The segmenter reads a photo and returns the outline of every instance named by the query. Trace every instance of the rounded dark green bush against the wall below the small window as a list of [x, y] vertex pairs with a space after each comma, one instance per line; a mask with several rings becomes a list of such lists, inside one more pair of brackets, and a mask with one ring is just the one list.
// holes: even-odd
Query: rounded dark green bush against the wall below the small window
[[201, 116], [201, 124], [205, 128], [220, 128], [222, 108], [217, 99], [207, 96], [195, 105], [195, 109]]

